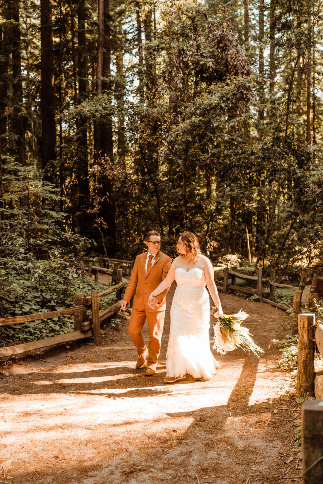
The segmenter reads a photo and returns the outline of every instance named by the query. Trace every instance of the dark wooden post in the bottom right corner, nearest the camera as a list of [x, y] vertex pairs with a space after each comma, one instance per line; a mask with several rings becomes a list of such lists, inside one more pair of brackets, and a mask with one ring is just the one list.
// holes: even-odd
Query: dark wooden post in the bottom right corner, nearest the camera
[[323, 483], [323, 400], [302, 405], [302, 477], [304, 484]]

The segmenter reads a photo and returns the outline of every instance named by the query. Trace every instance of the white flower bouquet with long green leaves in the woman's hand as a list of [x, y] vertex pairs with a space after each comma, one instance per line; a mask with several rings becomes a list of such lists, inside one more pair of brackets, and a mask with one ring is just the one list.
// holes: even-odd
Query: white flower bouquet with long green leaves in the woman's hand
[[[218, 308], [211, 307], [211, 314], [215, 315]], [[242, 309], [237, 314], [224, 314], [223, 318], [218, 318], [214, 329], [214, 345], [218, 353], [224, 355], [227, 351], [232, 351], [238, 347], [245, 351], [254, 353], [259, 357], [263, 353], [263, 349], [256, 345], [251, 338], [248, 328], [241, 326], [241, 322], [248, 317], [247, 313]]]

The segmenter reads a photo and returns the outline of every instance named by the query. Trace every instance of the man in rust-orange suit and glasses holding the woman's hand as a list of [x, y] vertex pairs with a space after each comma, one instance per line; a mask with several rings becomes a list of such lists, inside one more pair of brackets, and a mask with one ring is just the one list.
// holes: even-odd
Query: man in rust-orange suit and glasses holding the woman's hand
[[[156, 373], [165, 318], [165, 296], [169, 288], [154, 298], [154, 309], [148, 306], [148, 297], [167, 276], [171, 258], [160, 252], [160, 234], [155, 230], [147, 233], [145, 244], [148, 247], [148, 252], [144, 252], [136, 257], [121, 307], [123, 310], [125, 309], [136, 289], [128, 331], [133, 344], [138, 350], [136, 368], [141, 368], [144, 365], [149, 353], [146, 377], [150, 377]], [[146, 319], [149, 329], [148, 348], [141, 334]]]

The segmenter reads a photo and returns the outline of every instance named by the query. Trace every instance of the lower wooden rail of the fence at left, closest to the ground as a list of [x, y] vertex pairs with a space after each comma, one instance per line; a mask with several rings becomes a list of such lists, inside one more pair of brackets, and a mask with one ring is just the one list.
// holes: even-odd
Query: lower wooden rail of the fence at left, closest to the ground
[[20, 355], [35, 349], [49, 348], [50, 346], [61, 345], [62, 343], [69, 343], [84, 338], [92, 338], [92, 331], [87, 331], [86, 333], [83, 331], [73, 331], [72, 333], [59, 334], [51, 338], [23, 343], [22, 345], [7, 346], [6, 348], [0, 348], [0, 357]]

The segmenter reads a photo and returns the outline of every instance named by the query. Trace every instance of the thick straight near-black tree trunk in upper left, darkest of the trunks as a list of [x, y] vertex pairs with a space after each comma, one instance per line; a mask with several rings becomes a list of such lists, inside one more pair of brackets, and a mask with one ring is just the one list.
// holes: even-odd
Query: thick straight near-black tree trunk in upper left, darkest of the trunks
[[42, 117], [42, 167], [44, 178], [55, 180], [54, 167], [50, 163], [56, 160], [56, 126], [53, 72], [53, 26], [52, 1], [40, 1], [41, 15], [41, 117]]

